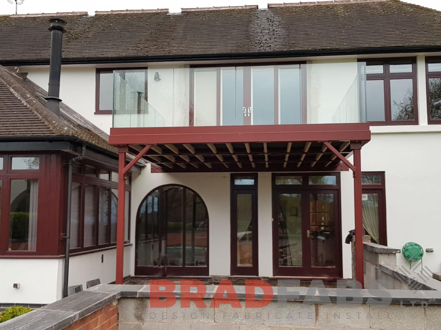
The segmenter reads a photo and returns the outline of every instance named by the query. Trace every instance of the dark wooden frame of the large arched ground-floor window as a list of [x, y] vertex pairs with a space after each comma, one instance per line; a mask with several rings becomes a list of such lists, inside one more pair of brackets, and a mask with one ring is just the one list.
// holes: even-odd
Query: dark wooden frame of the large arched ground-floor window
[[[161, 194], [162, 194], [162, 188], [164, 187], [182, 187], [184, 190], [189, 190], [191, 191], [194, 196], [198, 197], [201, 202], [203, 203], [205, 209], [206, 209], [206, 214], [207, 214], [207, 232], [206, 232], [206, 238], [207, 238], [207, 255], [206, 255], [206, 265], [205, 266], [186, 266], [185, 262], [183, 262], [183, 266], [140, 266], [138, 265], [138, 235], [135, 235], [135, 275], [139, 276], [153, 276], [153, 277], [176, 277], [176, 276], [208, 276], [209, 275], [209, 213], [208, 213], [208, 208], [207, 205], [205, 203], [205, 201], [202, 199], [201, 195], [198, 194], [198, 192], [194, 191], [193, 189], [184, 186], [182, 184], [175, 184], [175, 183], [170, 183], [170, 184], [163, 184], [161, 186], [155, 187], [153, 188], [151, 191], [149, 191], [148, 194], [146, 194], [146, 196], [144, 198], [142, 198], [142, 201], [139, 203], [138, 209], [136, 211], [136, 230], [135, 232], [138, 233], [138, 214], [139, 211], [141, 209], [141, 206], [143, 204], [143, 202], [146, 200], [146, 198], [148, 198], [150, 196], [150, 194], [152, 194], [154, 191], [158, 190], [159, 191], [159, 201], [161, 201]], [[186, 194], [183, 194], [183, 241], [182, 241], [182, 246], [183, 246], [183, 261], [186, 260], [186, 240], [187, 240], [187, 231], [186, 231], [186, 212], [185, 212], [185, 207], [186, 207]], [[162, 234], [164, 234], [164, 223], [161, 220], [164, 220], [163, 218], [161, 218], [161, 213], [162, 213], [162, 205], [160, 205], [160, 202], [158, 202], [158, 235], [159, 235], [159, 244], [161, 246], [162, 242], [161, 242], [161, 238], [163, 236], [161, 236]], [[161, 251], [160, 246], [159, 251]], [[159, 255], [159, 258], [161, 260], [161, 253]]]

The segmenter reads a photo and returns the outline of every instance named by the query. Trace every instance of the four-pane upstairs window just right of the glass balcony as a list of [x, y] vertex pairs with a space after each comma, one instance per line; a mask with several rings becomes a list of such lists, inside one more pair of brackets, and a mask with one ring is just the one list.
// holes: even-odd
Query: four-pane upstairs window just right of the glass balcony
[[418, 125], [415, 58], [366, 62], [367, 121], [372, 125]]

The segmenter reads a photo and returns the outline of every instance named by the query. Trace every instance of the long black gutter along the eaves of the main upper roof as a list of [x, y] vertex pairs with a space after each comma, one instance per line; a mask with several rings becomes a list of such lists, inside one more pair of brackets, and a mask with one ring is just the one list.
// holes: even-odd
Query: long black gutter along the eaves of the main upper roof
[[[348, 48], [348, 49], [318, 49], [302, 51], [265, 51], [254, 53], [221, 53], [221, 54], [183, 54], [183, 55], [153, 55], [153, 56], [112, 56], [112, 57], [64, 57], [62, 64], [104, 64], [104, 63], [136, 63], [136, 62], [170, 62], [170, 61], [209, 61], [209, 60], [248, 60], [248, 59], [277, 59], [286, 57], [307, 56], [341, 56], [368, 54], [396, 54], [441, 51], [437, 46], [399, 46], [377, 48]], [[0, 60], [3, 66], [49, 65], [48, 59], [10, 59]]]

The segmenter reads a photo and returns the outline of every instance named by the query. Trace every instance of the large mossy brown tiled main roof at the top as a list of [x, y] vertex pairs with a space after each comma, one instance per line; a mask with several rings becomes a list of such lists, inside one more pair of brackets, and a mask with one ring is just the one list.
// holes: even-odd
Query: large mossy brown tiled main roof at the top
[[[399, 0], [105, 11], [67, 21], [64, 62], [440, 49], [441, 12]], [[0, 63], [47, 63], [48, 15], [0, 16]]]

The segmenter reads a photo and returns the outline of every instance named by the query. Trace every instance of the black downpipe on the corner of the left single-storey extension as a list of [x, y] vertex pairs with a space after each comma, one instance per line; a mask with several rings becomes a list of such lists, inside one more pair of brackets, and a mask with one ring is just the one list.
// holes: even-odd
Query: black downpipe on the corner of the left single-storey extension
[[63, 298], [68, 295], [69, 286], [69, 258], [71, 250], [71, 199], [72, 199], [72, 164], [81, 161], [86, 154], [86, 143], [83, 144], [81, 155], [71, 158], [67, 163], [67, 206], [66, 206], [66, 250], [64, 253], [64, 278], [63, 278]]

